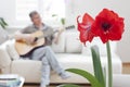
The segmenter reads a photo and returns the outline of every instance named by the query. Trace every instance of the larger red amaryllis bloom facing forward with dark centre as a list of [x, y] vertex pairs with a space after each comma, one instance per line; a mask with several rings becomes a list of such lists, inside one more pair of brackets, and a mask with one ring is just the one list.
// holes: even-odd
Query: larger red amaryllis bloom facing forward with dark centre
[[103, 11], [95, 17], [91, 30], [95, 36], [100, 36], [105, 44], [108, 40], [119, 40], [123, 33], [123, 18], [119, 17], [117, 13], [103, 9]]

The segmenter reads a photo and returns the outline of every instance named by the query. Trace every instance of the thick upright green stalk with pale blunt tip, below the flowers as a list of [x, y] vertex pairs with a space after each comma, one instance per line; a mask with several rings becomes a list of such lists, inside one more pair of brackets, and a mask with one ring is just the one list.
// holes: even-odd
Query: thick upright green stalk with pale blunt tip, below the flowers
[[98, 78], [98, 80], [102, 84], [102, 86], [105, 87], [104, 74], [103, 74], [103, 70], [102, 70], [102, 64], [101, 64], [101, 60], [100, 60], [100, 52], [99, 52], [98, 46], [91, 47], [91, 52], [92, 52], [94, 75]]

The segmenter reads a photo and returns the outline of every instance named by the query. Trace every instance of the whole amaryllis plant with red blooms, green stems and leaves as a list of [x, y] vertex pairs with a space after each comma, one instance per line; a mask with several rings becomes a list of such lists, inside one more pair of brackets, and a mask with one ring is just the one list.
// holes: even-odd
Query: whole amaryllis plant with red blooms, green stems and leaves
[[[86, 41], [91, 42], [93, 38], [100, 37], [103, 44], [106, 44], [107, 51], [107, 71], [103, 71], [100, 52], [98, 46], [91, 48], [94, 75], [88, 71], [80, 69], [67, 69], [66, 71], [78, 74], [87, 78], [92, 87], [113, 87], [113, 66], [109, 40], [120, 40], [123, 33], [123, 17], [120, 17], [114, 11], [103, 9], [95, 20], [89, 14], [84, 14], [82, 22], [79, 23], [77, 17], [78, 30], [80, 32], [80, 41], [86, 45]], [[102, 48], [103, 49], [103, 48]], [[106, 80], [106, 72], [108, 72], [108, 80]], [[80, 87], [78, 85], [61, 85], [60, 87]]]

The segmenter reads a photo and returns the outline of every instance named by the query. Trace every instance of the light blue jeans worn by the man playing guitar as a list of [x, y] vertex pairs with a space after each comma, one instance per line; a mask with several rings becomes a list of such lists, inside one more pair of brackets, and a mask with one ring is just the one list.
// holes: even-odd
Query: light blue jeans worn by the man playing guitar
[[41, 47], [34, 50], [31, 53], [31, 60], [42, 61], [41, 84], [43, 85], [50, 84], [51, 69], [54, 70], [57, 74], [61, 74], [64, 72], [64, 70], [57, 62], [53, 50], [49, 46]]

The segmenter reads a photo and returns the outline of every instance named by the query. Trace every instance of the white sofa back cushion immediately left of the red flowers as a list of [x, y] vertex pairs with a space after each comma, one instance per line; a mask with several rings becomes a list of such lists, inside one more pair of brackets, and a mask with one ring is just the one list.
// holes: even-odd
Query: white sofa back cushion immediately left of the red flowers
[[66, 30], [65, 48], [67, 53], [80, 53], [82, 46], [77, 30]]

